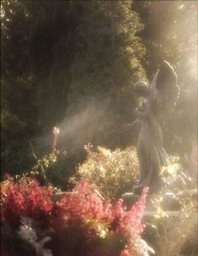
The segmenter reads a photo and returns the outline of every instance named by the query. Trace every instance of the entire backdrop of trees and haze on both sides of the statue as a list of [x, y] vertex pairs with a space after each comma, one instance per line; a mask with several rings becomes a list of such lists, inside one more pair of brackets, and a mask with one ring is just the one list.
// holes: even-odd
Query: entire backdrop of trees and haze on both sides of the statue
[[172, 154], [196, 136], [196, 19], [191, 1], [2, 1], [2, 169], [19, 173], [50, 150], [60, 126], [62, 168], [82, 160], [83, 144], [136, 143], [133, 84], [165, 59], [181, 94], [163, 131]]

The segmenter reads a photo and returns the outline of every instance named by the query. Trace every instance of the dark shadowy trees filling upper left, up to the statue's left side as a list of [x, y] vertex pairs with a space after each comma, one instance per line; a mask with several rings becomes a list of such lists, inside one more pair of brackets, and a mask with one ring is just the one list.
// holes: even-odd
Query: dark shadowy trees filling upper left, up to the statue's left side
[[[74, 150], [88, 141], [111, 147], [125, 144], [119, 123], [133, 119], [136, 96], [132, 84], [146, 78], [142, 68], [145, 47], [136, 35], [143, 25], [130, 3], [67, 0], [1, 4], [2, 168], [13, 172], [29, 169], [33, 161], [29, 139], [34, 144], [40, 140], [38, 150], [45, 151], [43, 138], [49, 141], [51, 127], [82, 115], [92, 108], [92, 102], [99, 102], [98, 110], [106, 105], [96, 121], [98, 129], [94, 127], [90, 133], [90, 123], [84, 123], [84, 138], [75, 144], [82, 130], [78, 123], [71, 138], [62, 139], [62, 144]], [[88, 118], [92, 122], [92, 117]]]

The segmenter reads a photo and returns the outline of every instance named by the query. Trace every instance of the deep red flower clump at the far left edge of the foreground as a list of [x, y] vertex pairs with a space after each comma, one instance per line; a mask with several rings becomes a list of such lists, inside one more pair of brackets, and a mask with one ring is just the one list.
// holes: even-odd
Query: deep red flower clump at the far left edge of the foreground
[[1, 188], [1, 218], [11, 226], [18, 227], [21, 217], [44, 222], [52, 210], [52, 188], [40, 188], [36, 180], [22, 177], [14, 182], [10, 177]]

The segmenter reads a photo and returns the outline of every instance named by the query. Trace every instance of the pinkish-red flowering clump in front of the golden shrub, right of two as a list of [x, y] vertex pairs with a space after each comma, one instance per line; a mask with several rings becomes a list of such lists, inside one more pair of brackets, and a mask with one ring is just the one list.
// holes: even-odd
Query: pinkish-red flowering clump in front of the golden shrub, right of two
[[[78, 183], [72, 193], [56, 202], [51, 218], [51, 226], [56, 230], [52, 241], [56, 252], [60, 249], [58, 255], [65, 255], [62, 251], [77, 256], [82, 252], [93, 256], [138, 255], [135, 244], [143, 230], [141, 221], [146, 194], [147, 188], [131, 210], [126, 211], [122, 199], [112, 207], [109, 201], [103, 201], [95, 193], [94, 185]], [[56, 248], [60, 241], [64, 249]]]

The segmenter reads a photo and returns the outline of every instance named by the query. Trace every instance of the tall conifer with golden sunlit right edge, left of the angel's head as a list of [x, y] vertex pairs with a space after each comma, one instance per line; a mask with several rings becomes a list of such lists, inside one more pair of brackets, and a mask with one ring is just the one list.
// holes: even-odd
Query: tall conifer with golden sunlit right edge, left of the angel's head
[[[76, 2], [77, 3], [77, 2]], [[134, 118], [132, 85], [146, 79], [142, 68], [145, 48], [136, 33], [142, 30], [138, 15], [123, 1], [82, 1], [68, 92], [67, 117], [89, 108], [100, 117], [83, 127], [83, 144], [124, 145], [120, 123]], [[91, 24], [89, 25], [91, 20]], [[94, 125], [94, 124], [97, 125]], [[79, 123], [81, 125], [81, 123]], [[75, 133], [75, 132], [74, 132]], [[75, 133], [78, 134], [79, 131]], [[119, 134], [119, 135], [117, 135]], [[131, 137], [134, 134], [131, 134]]]

